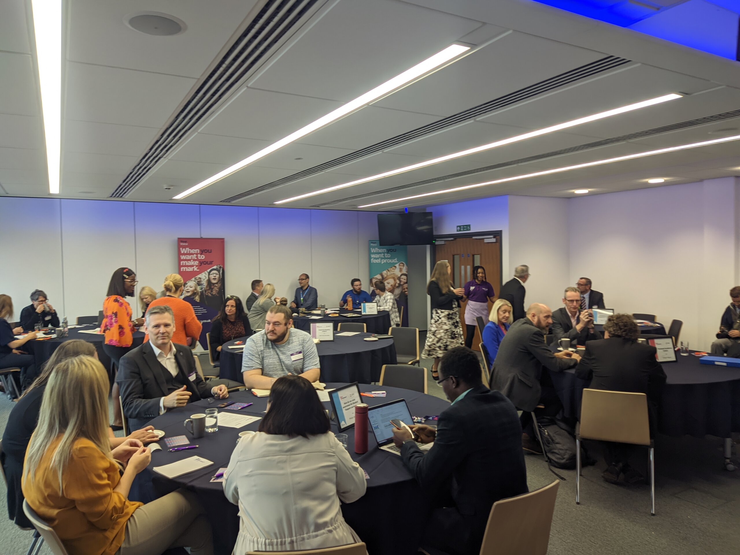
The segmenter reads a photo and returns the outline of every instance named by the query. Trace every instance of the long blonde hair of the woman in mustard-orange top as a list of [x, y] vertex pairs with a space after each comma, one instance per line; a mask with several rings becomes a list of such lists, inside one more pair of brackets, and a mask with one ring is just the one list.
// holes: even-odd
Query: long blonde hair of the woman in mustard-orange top
[[41, 458], [60, 435], [50, 461], [50, 468], [58, 474], [60, 490], [62, 474], [78, 439], [90, 440], [110, 458], [108, 385], [103, 365], [85, 354], [56, 366], [44, 391], [38, 425], [26, 451], [24, 481], [33, 483]]

